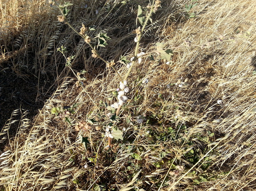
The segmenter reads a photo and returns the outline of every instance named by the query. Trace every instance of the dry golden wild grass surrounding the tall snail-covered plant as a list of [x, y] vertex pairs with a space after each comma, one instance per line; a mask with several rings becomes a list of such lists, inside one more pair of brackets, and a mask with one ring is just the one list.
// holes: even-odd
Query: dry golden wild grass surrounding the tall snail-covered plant
[[[29, 119], [28, 111], [16, 105], [1, 127], [0, 190], [95, 190], [96, 185], [120, 190], [139, 170], [134, 190], [256, 189], [254, 1], [200, 0], [193, 19], [186, 19], [187, 1], [162, 3], [146, 28], [140, 51], [154, 50], [157, 42], [165, 47], [179, 46], [184, 39], [200, 43], [238, 30], [252, 35], [239, 38], [237, 44], [175, 49], [170, 66], [149, 59], [135, 66], [128, 78], [131, 87], [147, 74], [150, 80], [132, 92], [121, 110], [118, 127], [125, 128], [124, 141], [112, 141], [111, 151], [104, 149], [105, 132], [95, 129], [86, 133], [90, 144], [85, 150], [79, 138], [84, 132], [54, 118], [51, 108], [79, 102], [76, 118], [103, 120], [100, 114], [105, 107], [99, 103], [114, 102], [111, 92], [118, 87], [118, 76], [91, 57], [88, 45], [72, 29], [57, 22], [56, 8], [42, 0], [0, 2], [0, 74], [15, 73], [25, 81], [33, 76], [38, 84], [35, 100], [47, 97], [44, 107]], [[130, 58], [135, 48], [131, 32], [136, 28], [136, 2], [87, 1], [85, 9], [84, 1], [74, 0], [70, 22], [76, 29], [81, 22], [95, 25], [92, 35], [107, 31], [111, 40], [100, 48], [102, 57], [118, 60], [125, 54]], [[61, 45], [67, 47], [67, 56], [76, 55], [73, 70], [87, 71], [84, 87], [100, 111], [64, 67], [57, 53]], [[126, 66], [115, 68], [125, 76]], [[183, 87], [175, 85], [185, 80]], [[167, 84], [174, 85], [166, 88]], [[131, 121], [126, 122], [129, 115]], [[138, 115], [145, 115], [147, 122], [136, 123], [133, 117]], [[169, 174], [178, 165], [184, 171]]]

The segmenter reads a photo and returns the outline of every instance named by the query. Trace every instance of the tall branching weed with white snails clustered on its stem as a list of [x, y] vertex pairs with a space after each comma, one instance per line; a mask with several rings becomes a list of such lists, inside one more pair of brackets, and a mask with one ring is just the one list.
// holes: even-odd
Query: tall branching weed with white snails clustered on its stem
[[[201, 49], [204, 48], [209, 48], [212, 46], [214, 43], [224, 43], [227, 41], [230, 41], [232, 43], [237, 42], [237, 37], [245, 37], [248, 38], [250, 35], [250, 32], [244, 32], [244, 33], [239, 33], [236, 36], [224, 36], [224, 35], [219, 35], [219, 37], [216, 38], [216, 40], [213, 41], [201, 41], [199, 44], [192, 44], [190, 40], [184, 40], [184, 44], [181, 44], [180, 46], [174, 46], [174, 47], [167, 47], [165, 48], [164, 43], [156, 43], [155, 50], [150, 51], [150, 52], [139, 52], [140, 50], [140, 44], [141, 44], [141, 39], [143, 35], [145, 35], [145, 27], [148, 25], [148, 22], [152, 22], [151, 16], [153, 13], [156, 13], [157, 9], [161, 7], [161, 1], [159, 0], [153, 0], [150, 1], [147, 7], [142, 8], [140, 5], [138, 6], [138, 14], [137, 14], [137, 22], [139, 22], [140, 26], [138, 26], [136, 29], [133, 30], [132, 34], [135, 35], [134, 37], [134, 42], [136, 43], [135, 46], [135, 51], [134, 55], [129, 59], [127, 59], [126, 56], [121, 56], [120, 60], [115, 62], [115, 60], [107, 60], [100, 56], [100, 54], [97, 51], [98, 47], [105, 47], [108, 45], [107, 41], [110, 40], [108, 35], [100, 31], [99, 34], [96, 35], [97, 42], [94, 42], [94, 38], [90, 36], [90, 31], [94, 31], [94, 28], [90, 28], [85, 26], [84, 24], [81, 24], [80, 31], [77, 31], [72, 24], [69, 23], [67, 20], [68, 13], [70, 12], [70, 9], [68, 7], [72, 6], [71, 3], [65, 2], [64, 4], [58, 4], [54, 0], [49, 0], [49, 3], [52, 6], [57, 6], [58, 9], [60, 10], [61, 15], [58, 15], [57, 19], [59, 22], [63, 22], [64, 24], [68, 25], [70, 28], [73, 29], [73, 31], [76, 32], [81, 38], [84, 39], [85, 43], [88, 44], [88, 46], [91, 48], [91, 56], [95, 59], [100, 59], [106, 64], [106, 68], [113, 69], [116, 73], [116, 75], [119, 78], [119, 82], [116, 85], [117, 90], [113, 92], [113, 94], [116, 96], [117, 101], [115, 101], [111, 106], [108, 106], [107, 108], [111, 111], [106, 115], [105, 121], [104, 122], [93, 122], [93, 121], [84, 121], [82, 119], [77, 119], [73, 115], [75, 114], [75, 109], [78, 105], [73, 105], [71, 107], [65, 106], [63, 108], [61, 107], [54, 107], [52, 109], [52, 114], [55, 114], [59, 116], [60, 118], [64, 118], [70, 125], [72, 125], [71, 121], [72, 119], [76, 120], [75, 123], [75, 130], [80, 131], [81, 129], [85, 132], [91, 131], [92, 128], [96, 128], [97, 130], [103, 129], [105, 132], [105, 136], [108, 137], [108, 148], [111, 147], [111, 139], [115, 138], [116, 140], [123, 140], [123, 133], [121, 130], [118, 129], [118, 122], [119, 118], [118, 115], [122, 109], [122, 107], [129, 101], [129, 98], [131, 97], [130, 95], [132, 94], [132, 91], [138, 87], [139, 85], [146, 85], [150, 81], [150, 77], [148, 74], [144, 76], [140, 81], [137, 82], [137, 84], [134, 85], [133, 88], [130, 87], [129, 84], [129, 75], [134, 68], [134, 66], [140, 64], [144, 59], [147, 59], [149, 56], [151, 59], [154, 59], [154, 57], [158, 57], [161, 60], [163, 60], [167, 65], [171, 65], [172, 63], [172, 55], [173, 55], [173, 50], [174, 49], [179, 49], [179, 48], [187, 48], [187, 47], [200, 47]], [[194, 4], [193, 6], [195, 6]], [[190, 10], [192, 6], [189, 6], [188, 9]], [[190, 16], [191, 18], [191, 16]], [[80, 82], [81, 77], [77, 75], [73, 70], [72, 70], [72, 60], [74, 59], [74, 56], [69, 56], [66, 57], [66, 48], [61, 46], [58, 48], [58, 51], [60, 51], [63, 56], [66, 59], [66, 67], [69, 67], [73, 74], [76, 76], [78, 79], [78, 86], [81, 86], [84, 90], [85, 88], [83, 87], [83, 84]], [[117, 71], [115, 68], [115, 65], [117, 63], [122, 63], [125, 64], [128, 71], [126, 72], [125, 76], [121, 76], [120, 73]], [[179, 87], [182, 87], [186, 81], [177, 83]], [[170, 88], [171, 85], [167, 85], [167, 88]], [[86, 92], [86, 90], [85, 90]], [[89, 97], [90, 95], [87, 94]], [[91, 101], [93, 99], [90, 97]], [[94, 101], [93, 101], [94, 103]], [[96, 103], [94, 105], [97, 106]], [[137, 120], [138, 123], [142, 123], [145, 118], [143, 119], [139, 116], [137, 117], [139, 120]], [[142, 120], [141, 120], [142, 119]], [[96, 125], [97, 123], [97, 125]]]

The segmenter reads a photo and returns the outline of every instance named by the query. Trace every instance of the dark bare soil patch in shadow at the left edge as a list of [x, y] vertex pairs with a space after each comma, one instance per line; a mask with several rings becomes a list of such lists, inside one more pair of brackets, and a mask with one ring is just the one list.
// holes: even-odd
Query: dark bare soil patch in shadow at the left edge
[[[32, 120], [42, 109], [45, 100], [51, 96], [54, 87], [53, 79], [48, 77], [38, 78], [34, 75], [19, 77], [8, 64], [0, 65], [0, 129], [13, 120], [21, 119], [22, 112], [28, 111], [27, 119]], [[19, 110], [19, 114], [12, 116], [14, 110]], [[12, 116], [12, 119], [9, 120]], [[19, 121], [10, 125], [8, 130], [9, 138], [15, 137], [19, 127]], [[6, 136], [0, 135], [0, 140]], [[0, 143], [0, 150], [3, 150], [8, 139]]]

